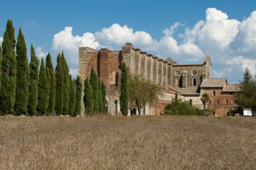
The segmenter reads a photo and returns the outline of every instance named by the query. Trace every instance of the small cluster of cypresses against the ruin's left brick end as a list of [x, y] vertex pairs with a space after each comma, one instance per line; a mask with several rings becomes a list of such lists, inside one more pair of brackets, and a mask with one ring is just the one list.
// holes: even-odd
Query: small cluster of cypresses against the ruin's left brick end
[[99, 114], [106, 112], [106, 86], [91, 69], [90, 79], [84, 82], [84, 108], [86, 114]]

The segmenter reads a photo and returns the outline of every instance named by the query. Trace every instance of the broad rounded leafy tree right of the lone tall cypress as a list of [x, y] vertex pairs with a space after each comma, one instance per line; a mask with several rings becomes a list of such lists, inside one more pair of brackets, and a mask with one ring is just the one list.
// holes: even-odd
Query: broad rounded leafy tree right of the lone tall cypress
[[158, 83], [140, 79], [135, 75], [128, 77], [129, 108], [137, 108], [139, 114], [145, 105], [154, 106], [162, 94], [162, 86]]

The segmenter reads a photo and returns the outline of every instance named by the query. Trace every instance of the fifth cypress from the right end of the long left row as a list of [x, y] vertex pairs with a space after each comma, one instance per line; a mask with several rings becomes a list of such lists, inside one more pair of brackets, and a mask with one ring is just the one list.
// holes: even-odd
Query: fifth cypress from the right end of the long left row
[[56, 96], [56, 79], [55, 79], [55, 72], [53, 69], [53, 62], [51, 59], [51, 54], [48, 53], [46, 56], [46, 73], [47, 79], [49, 81], [49, 103], [47, 108], [47, 114], [53, 115], [55, 111], [55, 96]]

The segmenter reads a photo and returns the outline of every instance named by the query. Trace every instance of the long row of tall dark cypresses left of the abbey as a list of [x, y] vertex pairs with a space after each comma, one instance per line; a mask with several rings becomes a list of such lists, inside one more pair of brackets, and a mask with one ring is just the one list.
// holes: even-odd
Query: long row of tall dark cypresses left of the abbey
[[[16, 52], [15, 52], [16, 47]], [[54, 70], [51, 54], [40, 62], [31, 45], [31, 60], [28, 65], [27, 49], [20, 28], [17, 44], [15, 29], [9, 19], [0, 46], [0, 111], [1, 114], [76, 116], [80, 112], [82, 83], [72, 79], [65, 56], [58, 54]]]

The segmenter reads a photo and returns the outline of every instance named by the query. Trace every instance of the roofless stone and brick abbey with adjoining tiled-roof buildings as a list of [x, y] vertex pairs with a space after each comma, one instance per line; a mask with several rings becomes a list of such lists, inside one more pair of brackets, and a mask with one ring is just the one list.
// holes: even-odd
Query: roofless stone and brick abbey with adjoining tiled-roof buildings
[[[161, 114], [164, 106], [172, 102], [175, 93], [183, 101], [189, 101], [197, 108], [203, 108], [200, 98], [203, 93], [208, 93], [210, 103], [207, 107], [212, 108], [216, 116], [224, 116], [226, 110], [234, 108], [234, 93], [238, 92], [238, 89], [236, 85], [228, 85], [226, 79], [220, 81], [210, 78], [212, 67], [210, 56], [206, 56], [201, 64], [179, 65], [171, 58], [163, 60], [134, 48], [130, 43], [126, 43], [120, 51], [80, 47], [78, 74], [82, 79], [83, 89], [84, 81], [90, 76], [90, 70], [94, 67], [106, 85], [106, 110], [109, 114], [121, 114], [119, 106], [121, 62], [125, 62], [128, 73], [140, 75], [142, 79], [164, 86], [164, 95], [159, 98], [158, 104], [154, 108], [147, 105], [141, 111], [143, 115]], [[221, 83], [216, 83], [219, 81]], [[83, 103], [82, 112], [84, 112]], [[137, 110], [133, 109], [129, 114], [137, 114]]]

